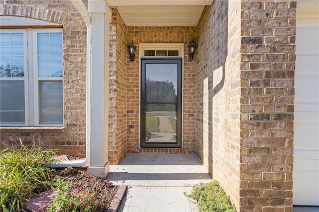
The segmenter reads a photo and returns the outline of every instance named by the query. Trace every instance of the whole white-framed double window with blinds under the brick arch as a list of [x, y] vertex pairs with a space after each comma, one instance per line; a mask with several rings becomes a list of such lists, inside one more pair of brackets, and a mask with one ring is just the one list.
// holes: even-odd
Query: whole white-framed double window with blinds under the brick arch
[[0, 124], [63, 124], [62, 29], [1, 29]]

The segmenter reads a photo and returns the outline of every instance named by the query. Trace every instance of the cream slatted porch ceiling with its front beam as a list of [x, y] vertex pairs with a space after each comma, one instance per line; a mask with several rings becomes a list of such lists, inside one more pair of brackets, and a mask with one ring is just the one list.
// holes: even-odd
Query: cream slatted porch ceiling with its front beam
[[106, 0], [127, 26], [196, 26], [213, 0]]

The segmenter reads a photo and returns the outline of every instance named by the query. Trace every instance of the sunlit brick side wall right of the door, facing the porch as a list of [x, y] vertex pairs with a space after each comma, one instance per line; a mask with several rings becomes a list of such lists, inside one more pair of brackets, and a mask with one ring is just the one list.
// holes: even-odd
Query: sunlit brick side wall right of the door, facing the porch
[[214, 1], [198, 23], [196, 153], [239, 209], [240, 2]]

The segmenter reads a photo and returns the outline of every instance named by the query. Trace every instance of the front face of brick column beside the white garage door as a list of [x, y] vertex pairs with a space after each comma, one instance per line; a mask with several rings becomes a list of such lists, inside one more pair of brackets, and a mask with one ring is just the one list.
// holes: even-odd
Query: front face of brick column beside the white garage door
[[241, 12], [240, 211], [293, 211], [296, 1]]

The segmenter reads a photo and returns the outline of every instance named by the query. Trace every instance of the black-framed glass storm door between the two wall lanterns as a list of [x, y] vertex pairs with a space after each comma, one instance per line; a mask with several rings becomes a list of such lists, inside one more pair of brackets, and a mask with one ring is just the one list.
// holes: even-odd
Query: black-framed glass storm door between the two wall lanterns
[[181, 59], [141, 64], [141, 147], [181, 147]]

